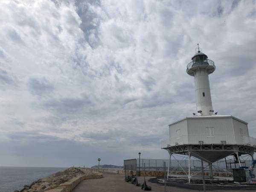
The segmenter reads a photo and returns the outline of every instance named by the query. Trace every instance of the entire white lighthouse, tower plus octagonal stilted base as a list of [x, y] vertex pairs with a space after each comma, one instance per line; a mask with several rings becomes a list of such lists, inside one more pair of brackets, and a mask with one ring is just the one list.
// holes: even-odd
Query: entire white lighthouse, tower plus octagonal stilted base
[[[247, 122], [213, 111], [209, 74], [215, 68], [214, 62], [198, 46], [186, 69], [195, 79], [197, 114], [169, 124], [170, 138], [163, 140], [161, 146], [169, 152], [170, 160], [172, 154], [186, 154], [189, 162], [191, 156], [204, 161], [209, 165], [210, 176], [212, 163], [233, 155], [235, 163], [241, 167], [239, 156], [247, 154], [253, 159], [256, 151], [256, 139], [249, 136]], [[190, 164], [187, 175], [190, 182]]]

